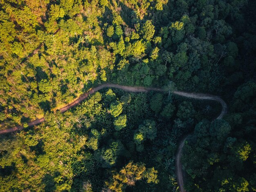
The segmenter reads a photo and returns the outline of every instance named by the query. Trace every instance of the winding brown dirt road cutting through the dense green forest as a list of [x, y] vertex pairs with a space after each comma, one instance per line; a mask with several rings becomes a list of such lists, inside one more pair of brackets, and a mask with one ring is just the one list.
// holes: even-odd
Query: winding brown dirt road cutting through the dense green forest
[[[164, 92], [165, 91], [164, 89], [154, 88], [154, 87], [130, 87], [130, 86], [107, 83], [107, 84], [102, 84], [102, 85], [99, 85], [97, 87], [89, 89], [85, 94], [82, 94], [75, 101], [73, 101], [72, 103], [66, 105], [65, 107], [63, 107], [59, 110], [61, 111], [61, 113], [64, 113], [68, 109], [70, 109], [70, 108], [78, 105], [79, 103], [81, 103], [83, 100], [85, 100], [85, 98], [87, 98], [88, 96], [90, 96], [94, 92], [97, 92], [100, 89], [103, 89], [103, 88], [106, 88], [106, 87], [123, 89], [123, 90], [128, 91], [128, 92], [149, 92], [149, 91]], [[215, 100], [215, 101], [219, 102], [222, 105], [222, 111], [216, 119], [221, 119], [223, 117], [223, 115], [227, 113], [227, 104], [225, 103], [224, 100], [222, 100], [218, 96], [214, 96], [214, 95], [211, 95], [211, 94], [189, 93], [189, 92], [180, 92], [180, 91], [173, 91], [173, 94], [188, 97], [188, 98], [204, 99], [204, 100]], [[44, 117], [40, 118], [40, 119], [36, 119], [34, 121], [31, 121], [30, 123], [28, 123], [28, 125], [29, 125], [29, 127], [33, 127], [34, 125], [38, 125], [38, 124], [42, 123], [43, 121], [45, 121]], [[13, 128], [10, 128], [10, 129], [0, 130], [0, 135], [20, 131], [23, 128], [24, 127], [21, 125], [21, 126], [13, 127]], [[182, 148], [184, 146], [186, 138], [187, 137], [183, 138], [182, 141], [180, 142], [180, 145], [179, 145], [178, 151], [177, 151], [177, 156], [176, 156], [177, 182], [179, 184], [181, 192], [185, 192], [185, 190], [184, 190], [184, 187], [183, 187], [184, 179], [183, 179], [182, 165], [180, 163], [180, 159], [181, 159], [181, 156], [182, 156]]]

